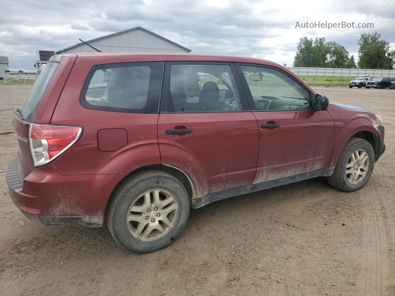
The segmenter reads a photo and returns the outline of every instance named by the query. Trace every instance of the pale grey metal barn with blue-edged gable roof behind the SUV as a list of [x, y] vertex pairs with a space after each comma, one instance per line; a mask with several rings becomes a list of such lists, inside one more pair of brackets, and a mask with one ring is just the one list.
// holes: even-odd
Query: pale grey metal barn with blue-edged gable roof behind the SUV
[[[191, 50], [143, 27], [135, 27], [106, 36], [84, 40], [100, 51], [123, 52], [190, 52]], [[84, 43], [66, 47], [56, 54], [95, 51]]]

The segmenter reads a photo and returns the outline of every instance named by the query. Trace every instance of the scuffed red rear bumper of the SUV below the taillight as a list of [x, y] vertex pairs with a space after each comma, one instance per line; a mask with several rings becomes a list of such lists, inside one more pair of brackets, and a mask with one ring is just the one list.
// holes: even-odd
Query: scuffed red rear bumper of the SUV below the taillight
[[6, 179], [12, 201], [29, 219], [47, 225], [100, 227], [111, 192], [126, 175], [64, 176], [46, 165], [22, 178], [18, 159], [13, 159]]

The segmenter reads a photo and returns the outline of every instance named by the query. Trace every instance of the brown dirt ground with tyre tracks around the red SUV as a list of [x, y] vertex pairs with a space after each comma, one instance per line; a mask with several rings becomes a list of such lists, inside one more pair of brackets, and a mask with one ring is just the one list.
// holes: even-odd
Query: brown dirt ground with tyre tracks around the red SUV
[[0, 295], [395, 295], [395, 90], [315, 88], [386, 124], [360, 191], [316, 178], [218, 201], [191, 210], [169, 247], [138, 255], [105, 228], [43, 226], [11, 202], [8, 132], [30, 88], [0, 85]]

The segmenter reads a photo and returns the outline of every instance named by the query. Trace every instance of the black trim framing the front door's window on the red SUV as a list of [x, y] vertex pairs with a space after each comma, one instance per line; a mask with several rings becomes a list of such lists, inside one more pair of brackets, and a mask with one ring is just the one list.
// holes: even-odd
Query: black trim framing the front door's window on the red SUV
[[[310, 98], [310, 102], [313, 105], [313, 108], [311, 109], [295, 109], [295, 110], [257, 110], [255, 103], [254, 103], [254, 99], [252, 98], [252, 94], [250, 91], [250, 87], [248, 86], [248, 82], [245, 79], [243, 70], [241, 69], [241, 66], [249, 66], [249, 67], [261, 67], [261, 68], [267, 68], [267, 69], [272, 69], [272, 70], [276, 70], [281, 72], [282, 74], [286, 75], [287, 77], [289, 77], [290, 79], [292, 79], [294, 82], [296, 82], [299, 86], [301, 86], [301, 88], [303, 88], [307, 93], [308, 96]], [[294, 77], [292, 77], [291, 75], [289, 75], [288, 73], [282, 71], [282, 69], [277, 68], [277, 67], [273, 67], [273, 66], [267, 66], [267, 65], [261, 65], [261, 64], [250, 64], [250, 63], [235, 63], [235, 67], [237, 69], [237, 73], [240, 76], [241, 79], [241, 83], [243, 84], [243, 88], [246, 94], [246, 98], [248, 101], [248, 105], [250, 106], [250, 111], [252, 112], [295, 112], [295, 111], [315, 111], [315, 96], [312, 94], [312, 92], [310, 92], [310, 90], [308, 90], [306, 88], [306, 86], [304, 86], [303, 84], [301, 84], [299, 81], [297, 81]]]

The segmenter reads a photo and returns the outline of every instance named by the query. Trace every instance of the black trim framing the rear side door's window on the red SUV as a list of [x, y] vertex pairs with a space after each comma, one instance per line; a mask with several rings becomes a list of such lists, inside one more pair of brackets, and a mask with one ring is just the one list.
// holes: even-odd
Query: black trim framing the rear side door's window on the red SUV
[[[231, 69], [231, 74], [233, 75], [233, 79], [236, 84], [236, 92], [239, 94], [241, 110], [235, 111], [226, 111], [226, 112], [218, 112], [218, 111], [188, 111], [188, 112], [173, 112], [168, 111], [169, 109], [169, 92], [170, 92], [170, 76], [171, 76], [171, 66], [172, 65], [222, 65], [229, 66]], [[205, 62], [205, 61], [170, 61], [165, 62], [164, 66], [164, 75], [162, 80], [162, 94], [160, 96], [160, 113], [169, 113], [169, 114], [188, 114], [188, 113], [240, 113], [240, 112], [251, 112], [249, 109], [248, 101], [245, 95], [245, 91], [243, 88], [243, 84], [240, 80], [239, 74], [235, 67], [235, 63], [233, 62]]]

